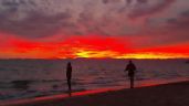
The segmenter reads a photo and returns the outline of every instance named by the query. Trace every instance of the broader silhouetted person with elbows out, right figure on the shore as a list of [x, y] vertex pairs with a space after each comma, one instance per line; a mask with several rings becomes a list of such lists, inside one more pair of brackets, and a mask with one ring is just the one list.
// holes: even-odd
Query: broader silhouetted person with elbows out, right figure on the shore
[[135, 71], [136, 71], [135, 64], [132, 61], [129, 61], [125, 71], [128, 71], [128, 76], [130, 78], [130, 88], [134, 88], [134, 76], [135, 76]]

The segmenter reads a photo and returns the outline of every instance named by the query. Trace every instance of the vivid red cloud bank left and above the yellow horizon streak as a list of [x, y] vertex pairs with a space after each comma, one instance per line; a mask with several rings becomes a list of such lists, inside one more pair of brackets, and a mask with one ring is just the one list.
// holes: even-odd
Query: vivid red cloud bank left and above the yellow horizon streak
[[36, 42], [13, 39], [9, 41], [9, 45], [7, 50], [9, 53], [40, 59], [80, 57], [78, 53], [82, 51], [91, 51], [91, 54], [96, 56], [102, 52], [107, 53], [105, 54], [107, 56], [112, 55], [111, 53], [122, 54], [130, 52], [130, 44], [128, 42], [124, 43], [119, 39], [103, 36], [73, 36], [61, 42]]

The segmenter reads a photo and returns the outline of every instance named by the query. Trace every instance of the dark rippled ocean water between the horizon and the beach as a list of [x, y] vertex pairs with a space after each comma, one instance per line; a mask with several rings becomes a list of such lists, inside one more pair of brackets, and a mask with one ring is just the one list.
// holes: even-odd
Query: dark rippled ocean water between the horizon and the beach
[[[137, 87], [189, 80], [187, 60], [133, 61]], [[73, 66], [73, 92], [129, 87], [124, 72], [128, 60], [0, 60], [0, 102], [66, 94], [67, 62]]]

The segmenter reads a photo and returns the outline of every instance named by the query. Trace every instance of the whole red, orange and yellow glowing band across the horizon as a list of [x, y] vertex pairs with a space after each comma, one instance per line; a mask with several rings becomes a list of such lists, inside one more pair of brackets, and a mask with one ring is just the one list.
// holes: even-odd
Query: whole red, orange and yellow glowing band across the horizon
[[61, 42], [34, 42], [13, 39], [0, 47], [0, 57], [10, 59], [189, 59], [189, 44], [134, 49], [115, 38], [70, 38]]

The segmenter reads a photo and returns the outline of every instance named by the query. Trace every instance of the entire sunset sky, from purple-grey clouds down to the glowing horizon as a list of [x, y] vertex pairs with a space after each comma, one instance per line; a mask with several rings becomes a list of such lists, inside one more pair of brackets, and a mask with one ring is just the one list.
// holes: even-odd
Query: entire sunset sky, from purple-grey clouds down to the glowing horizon
[[0, 59], [189, 57], [189, 0], [0, 0]]

